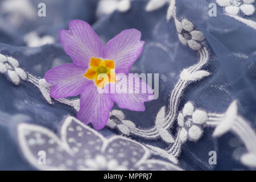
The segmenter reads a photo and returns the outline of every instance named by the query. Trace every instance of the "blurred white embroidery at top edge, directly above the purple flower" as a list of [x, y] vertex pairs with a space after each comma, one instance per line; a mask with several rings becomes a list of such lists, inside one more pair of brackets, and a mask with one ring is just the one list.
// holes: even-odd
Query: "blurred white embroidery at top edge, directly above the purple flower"
[[130, 6], [130, 0], [101, 0], [98, 2], [96, 15], [100, 17], [112, 14], [115, 10], [126, 12]]

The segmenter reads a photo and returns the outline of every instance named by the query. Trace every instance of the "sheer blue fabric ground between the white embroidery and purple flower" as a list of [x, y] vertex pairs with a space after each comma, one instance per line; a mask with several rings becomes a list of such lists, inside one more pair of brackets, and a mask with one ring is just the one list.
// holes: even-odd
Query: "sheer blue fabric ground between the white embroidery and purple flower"
[[[36, 8], [40, 1], [31, 2]], [[147, 1], [132, 1], [127, 13], [115, 11], [97, 19], [97, 1], [44, 2], [48, 13], [45, 18], [24, 19], [17, 27], [8, 22], [6, 14], [0, 13], [0, 53], [14, 57], [24, 71], [43, 78], [44, 73], [49, 69], [72, 61], [65, 55], [58, 38], [60, 29], [68, 29], [69, 20], [81, 19], [90, 23], [104, 42], [108, 42], [122, 30], [137, 28], [142, 32], [142, 40], [146, 43], [141, 57], [135, 62], [131, 72], [159, 73], [159, 98], [147, 102], [144, 112], [122, 111], [137, 127], [154, 126], [159, 109], [168, 106], [171, 90], [179, 79], [180, 72], [198, 61], [197, 52], [179, 42], [174, 20], [166, 21], [168, 6], [146, 12], [144, 9]], [[194, 22], [195, 26], [204, 33], [205, 44], [212, 50], [210, 60], [202, 68], [212, 75], [185, 89], [179, 110], [183, 109], [187, 101], [193, 101], [197, 107], [212, 113], [225, 113], [233, 100], [239, 100], [240, 114], [256, 129], [256, 32], [253, 28], [222, 14], [220, 7], [217, 17], [210, 18], [208, 9], [205, 9], [209, 2], [213, 1], [176, 1], [177, 18], [186, 17]], [[56, 43], [36, 48], [26, 47], [23, 36], [30, 31], [36, 31], [40, 36], [51, 35]], [[242, 60], [234, 55], [234, 52], [245, 54], [248, 58]], [[76, 116], [76, 111], [69, 106], [58, 102], [54, 105], [47, 104], [38, 88], [30, 82], [22, 82], [14, 86], [1, 74], [0, 101], [0, 169], [2, 170], [35, 169], [23, 158], [17, 144], [16, 126], [19, 123], [34, 123], [56, 132], [65, 116]], [[113, 109], [118, 109], [118, 106], [115, 105]], [[104, 136], [118, 134], [108, 127], [100, 133]], [[187, 170], [248, 169], [232, 158], [235, 148], [228, 143], [234, 135], [228, 133], [216, 139], [212, 137], [212, 133], [212, 128], [205, 128], [204, 135], [199, 141], [183, 144], [179, 166]], [[150, 141], [139, 137], [132, 138], [163, 149], [168, 147], [160, 139]], [[242, 144], [241, 146], [243, 147]], [[217, 165], [208, 164], [208, 152], [211, 150], [217, 152]], [[154, 158], [166, 160], [159, 156]]]

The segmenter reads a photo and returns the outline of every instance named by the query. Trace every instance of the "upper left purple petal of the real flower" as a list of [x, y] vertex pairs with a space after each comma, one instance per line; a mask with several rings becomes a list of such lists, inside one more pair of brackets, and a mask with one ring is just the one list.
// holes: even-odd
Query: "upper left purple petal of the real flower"
[[60, 42], [73, 63], [88, 68], [91, 57], [102, 57], [103, 44], [90, 25], [82, 20], [69, 22], [69, 30], [59, 32]]

